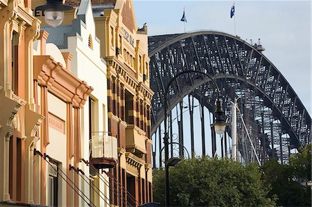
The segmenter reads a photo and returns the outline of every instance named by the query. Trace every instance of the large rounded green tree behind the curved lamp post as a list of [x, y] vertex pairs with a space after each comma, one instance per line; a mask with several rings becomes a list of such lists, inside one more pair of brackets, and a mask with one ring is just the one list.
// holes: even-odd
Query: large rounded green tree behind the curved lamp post
[[[170, 168], [171, 206], [275, 206], [256, 165], [207, 156]], [[164, 170], [153, 171], [154, 201], [164, 205]]]

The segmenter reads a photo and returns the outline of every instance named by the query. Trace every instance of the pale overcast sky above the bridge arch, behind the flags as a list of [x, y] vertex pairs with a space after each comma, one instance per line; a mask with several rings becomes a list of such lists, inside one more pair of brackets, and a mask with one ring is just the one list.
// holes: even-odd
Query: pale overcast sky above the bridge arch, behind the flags
[[[134, 0], [137, 26], [148, 35], [218, 30], [234, 35], [233, 1]], [[266, 48], [263, 52], [291, 84], [311, 113], [311, 1], [235, 1], [236, 35]]]

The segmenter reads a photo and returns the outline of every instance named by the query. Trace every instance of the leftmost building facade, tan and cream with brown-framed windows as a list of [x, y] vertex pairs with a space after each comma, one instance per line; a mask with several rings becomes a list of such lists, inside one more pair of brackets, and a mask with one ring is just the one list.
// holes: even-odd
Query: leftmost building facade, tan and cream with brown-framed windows
[[37, 111], [31, 1], [0, 1], [0, 201], [33, 202], [32, 154], [44, 116]]

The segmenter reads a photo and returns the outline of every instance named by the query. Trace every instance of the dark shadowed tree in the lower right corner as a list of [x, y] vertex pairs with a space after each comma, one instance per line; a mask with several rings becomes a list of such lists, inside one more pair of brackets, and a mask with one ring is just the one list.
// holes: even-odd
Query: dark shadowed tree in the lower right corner
[[311, 180], [311, 144], [282, 165], [271, 159], [261, 167], [263, 179], [271, 186], [268, 195], [277, 196], [278, 206], [311, 206], [311, 188], [302, 183]]

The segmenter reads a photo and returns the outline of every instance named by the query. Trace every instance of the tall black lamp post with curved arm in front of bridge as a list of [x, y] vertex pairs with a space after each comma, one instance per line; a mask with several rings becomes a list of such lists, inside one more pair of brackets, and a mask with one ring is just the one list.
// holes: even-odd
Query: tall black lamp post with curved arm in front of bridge
[[168, 157], [169, 157], [169, 136], [167, 132], [167, 117], [168, 117], [168, 112], [167, 112], [167, 93], [170, 88], [170, 85], [173, 81], [175, 81], [180, 75], [184, 75], [185, 73], [198, 73], [201, 75], [206, 76], [209, 78], [213, 83], [214, 86], [216, 87], [218, 93], [217, 93], [217, 100], [216, 100], [216, 111], [214, 111], [215, 114], [215, 120], [214, 123], [212, 124], [215, 128], [215, 131], [217, 134], [223, 134], [225, 132], [225, 112], [222, 109], [222, 105], [220, 102], [220, 89], [218, 87], [218, 84], [216, 84], [216, 81], [211, 78], [210, 75], [207, 75], [206, 73], [203, 73], [201, 71], [182, 71], [180, 73], [177, 73], [175, 77], [173, 77], [167, 84], [166, 89], [164, 91], [164, 150], [165, 150], [165, 206], [170, 206], [170, 197], [169, 197], [169, 163], [168, 163]]

